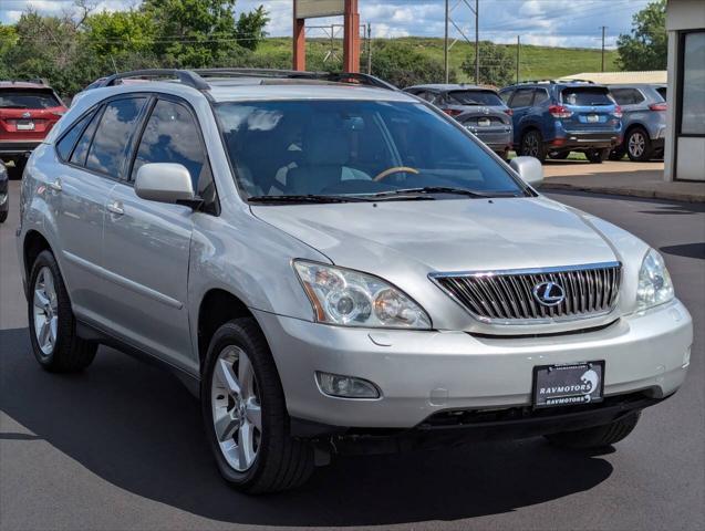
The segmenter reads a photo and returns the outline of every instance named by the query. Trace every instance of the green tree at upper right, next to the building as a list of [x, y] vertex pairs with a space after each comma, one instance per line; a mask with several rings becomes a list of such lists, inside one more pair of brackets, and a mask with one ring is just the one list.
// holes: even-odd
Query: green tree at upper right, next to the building
[[668, 37], [666, 33], [666, 0], [656, 0], [632, 18], [631, 34], [616, 41], [622, 70], [665, 70]]

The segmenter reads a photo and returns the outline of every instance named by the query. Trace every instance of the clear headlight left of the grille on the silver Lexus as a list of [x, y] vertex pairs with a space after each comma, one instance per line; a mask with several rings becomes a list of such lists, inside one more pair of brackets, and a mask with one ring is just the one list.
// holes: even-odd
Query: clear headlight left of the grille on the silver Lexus
[[320, 323], [431, 329], [431, 319], [418, 304], [377, 277], [300, 260], [293, 267]]

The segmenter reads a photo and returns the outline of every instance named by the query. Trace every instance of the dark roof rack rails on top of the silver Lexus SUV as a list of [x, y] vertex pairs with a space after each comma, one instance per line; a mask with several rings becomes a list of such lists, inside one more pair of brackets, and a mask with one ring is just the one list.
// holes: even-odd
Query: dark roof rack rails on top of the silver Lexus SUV
[[388, 91], [398, 91], [398, 88], [386, 81], [374, 75], [361, 74], [357, 72], [301, 72], [298, 70], [276, 70], [276, 69], [149, 69], [133, 70], [129, 72], [121, 72], [101, 79], [90, 85], [91, 88], [103, 86], [113, 86], [120, 80], [133, 77], [170, 77], [178, 80], [179, 83], [191, 86], [198, 91], [208, 91], [210, 85], [205, 77], [262, 77], [262, 79], [286, 79], [286, 80], [318, 80], [329, 81], [331, 83], [355, 83], [361, 85], [376, 86]]

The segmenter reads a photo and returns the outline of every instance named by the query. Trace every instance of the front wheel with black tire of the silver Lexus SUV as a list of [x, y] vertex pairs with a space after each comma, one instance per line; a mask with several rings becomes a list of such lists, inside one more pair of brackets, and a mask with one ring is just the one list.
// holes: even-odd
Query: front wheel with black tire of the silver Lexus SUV
[[248, 493], [288, 490], [313, 472], [313, 448], [294, 439], [267, 340], [253, 319], [214, 334], [201, 379], [201, 413], [221, 476]]

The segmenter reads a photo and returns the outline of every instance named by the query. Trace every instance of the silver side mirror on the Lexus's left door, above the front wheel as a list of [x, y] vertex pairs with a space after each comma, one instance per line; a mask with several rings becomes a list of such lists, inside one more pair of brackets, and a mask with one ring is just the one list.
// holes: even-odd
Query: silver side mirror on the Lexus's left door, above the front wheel
[[174, 163], [142, 165], [135, 178], [135, 194], [157, 202], [189, 204], [196, 199], [188, 169]]

